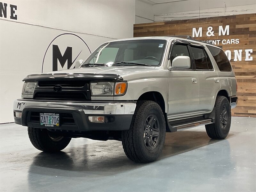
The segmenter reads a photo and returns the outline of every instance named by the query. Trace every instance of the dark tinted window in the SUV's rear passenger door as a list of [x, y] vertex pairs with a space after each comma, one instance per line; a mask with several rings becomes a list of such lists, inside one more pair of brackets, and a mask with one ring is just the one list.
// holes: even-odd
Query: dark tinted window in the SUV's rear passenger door
[[207, 60], [206, 60], [206, 55], [204, 53], [204, 49], [200, 48], [200, 47], [191, 47], [191, 51], [194, 56], [196, 69], [208, 70], [208, 64], [207, 64]]

